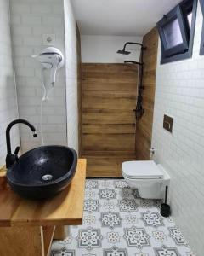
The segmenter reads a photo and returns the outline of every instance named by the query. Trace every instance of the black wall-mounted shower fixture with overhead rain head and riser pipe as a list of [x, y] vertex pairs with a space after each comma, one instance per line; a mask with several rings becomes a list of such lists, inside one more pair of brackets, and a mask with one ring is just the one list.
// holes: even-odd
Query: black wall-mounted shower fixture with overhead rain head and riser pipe
[[131, 63], [131, 64], [139, 65], [138, 96], [137, 96], [136, 108], [133, 109], [133, 111], [135, 112], [136, 120], [139, 120], [139, 119], [141, 119], [141, 117], [144, 114], [143, 96], [142, 96], [142, 91], [144, 90], [144, 86], [143, 86], [143, 68], [144, 68], [143, 52], [146, 49], [146, 47], [144, 47], [144, 45], [141, 43], [127, 42], [126, 44], [124, 44], [123, 49], [118, 50], [117, 53], [122, 54], [122, 55], [129, 55], [131, 52], [126, 50], [127, 44], [139, 45], [141, 47], [139, 61], [124, 61], [124, 63]]

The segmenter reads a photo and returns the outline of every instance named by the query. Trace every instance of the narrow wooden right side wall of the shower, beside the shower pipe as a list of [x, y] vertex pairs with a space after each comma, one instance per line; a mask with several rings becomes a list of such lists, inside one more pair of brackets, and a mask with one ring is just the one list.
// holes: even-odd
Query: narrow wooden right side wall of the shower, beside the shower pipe
[[158, 48], [158, 32], [153, 28], [143, 38], [144, 47], [144, 115], [137, 122], [136, 159], [150, 160], [150, 146], [152, 136], [153, 111], [156, 88], [156, 59]]

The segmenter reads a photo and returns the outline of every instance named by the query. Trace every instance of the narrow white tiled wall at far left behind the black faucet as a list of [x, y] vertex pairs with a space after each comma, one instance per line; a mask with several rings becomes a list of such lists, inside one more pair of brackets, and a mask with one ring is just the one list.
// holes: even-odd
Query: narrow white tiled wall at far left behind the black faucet
[[[14, 83], [10, 18], [8, 0], [0, 1], [0, 168], [5, 164], [6, 137], [8, 123], [18, 118], [17, 97]], [[11, 131], [12, 146], [20, 145], [19, 128]]]

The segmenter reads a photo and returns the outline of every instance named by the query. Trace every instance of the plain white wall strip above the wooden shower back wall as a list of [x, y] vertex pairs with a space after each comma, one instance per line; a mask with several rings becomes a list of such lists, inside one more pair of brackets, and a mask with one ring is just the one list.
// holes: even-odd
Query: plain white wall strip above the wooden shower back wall
[[139, 61], [140, 47], [127, 45], [130, 55], [119, 55], [118, 49], [123, 49], [126, 42], [142, 42], [141, 37], [111, 37], [82, 35], [83, 63], [123, 63], [125, 60]]

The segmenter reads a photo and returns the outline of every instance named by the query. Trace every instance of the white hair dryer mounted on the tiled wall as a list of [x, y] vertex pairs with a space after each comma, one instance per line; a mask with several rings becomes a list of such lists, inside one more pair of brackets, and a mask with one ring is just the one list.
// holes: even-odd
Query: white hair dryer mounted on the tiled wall
[[[48, 47], [43, 49], [42, 52], [38, 55], [32, 55], [33, 58], [37, 58], [38, 61], [42, 64], [42, 69], [50, 69], [50, 82], [52, 87], [54, 87], [54, 83], [56, 81], [56, 73], [60, 67], [65, 65], [65, 58], [62, 52], [55, 47]], [[42, 82], [43, 84], [43, 82]], [[43, 99], [47, 98], [47, 87], [43, 84], [45, 93]]]

